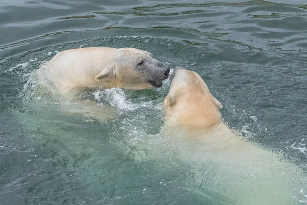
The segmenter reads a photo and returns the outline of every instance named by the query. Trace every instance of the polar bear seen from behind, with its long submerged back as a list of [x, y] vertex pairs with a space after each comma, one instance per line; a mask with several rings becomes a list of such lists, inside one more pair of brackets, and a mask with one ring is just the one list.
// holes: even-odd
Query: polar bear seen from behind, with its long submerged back
[[205, 167], [198, 176], [206, 187], [227, 195], [234, 204], [300, 204], [299, 199], [304, 200], [305, 174], [282, 154], [245, 140], [225, 125], [219, 110], [222, 104], [199, 74], [176, 67], [170, 79], [164, 99], [170, 143], [176, 143], [182, 159]]

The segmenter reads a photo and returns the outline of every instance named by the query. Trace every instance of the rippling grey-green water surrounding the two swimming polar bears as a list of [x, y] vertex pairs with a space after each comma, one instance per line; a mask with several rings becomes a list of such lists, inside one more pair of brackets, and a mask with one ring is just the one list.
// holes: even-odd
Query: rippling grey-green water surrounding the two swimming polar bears
[[[2, 1], [1, 204], [236, 204], [164, 141], [169, 81], [85, 90], [118, 113], [104, 123], [37, 95], [31, 71], [79, 47], [135, 47], [198, 72], [230, 127], [306, 171], [307, 5], [288, 3]], [[296, 193], [293, 203], [307, 203], [306, 187]]]

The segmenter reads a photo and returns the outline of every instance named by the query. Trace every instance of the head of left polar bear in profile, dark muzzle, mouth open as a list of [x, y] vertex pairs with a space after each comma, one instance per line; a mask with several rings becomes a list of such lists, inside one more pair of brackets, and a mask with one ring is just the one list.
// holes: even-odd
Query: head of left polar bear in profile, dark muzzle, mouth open
[[96, 75], [98, 83], [109, 87], [146, 89], [161, 87], [169, 68], [152, 58], [151, 53], [135, 48], [121, 48], [110, 57], [107, 66]]

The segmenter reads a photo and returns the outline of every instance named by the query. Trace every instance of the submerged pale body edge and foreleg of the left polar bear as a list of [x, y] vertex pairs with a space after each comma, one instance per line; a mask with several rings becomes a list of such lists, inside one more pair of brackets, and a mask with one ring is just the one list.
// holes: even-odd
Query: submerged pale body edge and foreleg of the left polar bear
[[100, 122], [114, 119], [117, 116], [115, 108], [97, 104], [93, 100], [78, 99], [77, 94], [81, 90], [79, 88], [70, 90], [65, 95], [62, 95], [55, 86], [53, 75], [51, 75], [48, 67], [48, 61], [43, 62], [38, 70], [34, 70], [31, 73], [28, 84], [32, 87], [32, 93], [26, 95], [34, 94], [41, 105], [46, 104], [49, 107], [56, 107], [62, 113], [75, 116], [82, 115], [85, 117], [85, 121], [99, 120]]

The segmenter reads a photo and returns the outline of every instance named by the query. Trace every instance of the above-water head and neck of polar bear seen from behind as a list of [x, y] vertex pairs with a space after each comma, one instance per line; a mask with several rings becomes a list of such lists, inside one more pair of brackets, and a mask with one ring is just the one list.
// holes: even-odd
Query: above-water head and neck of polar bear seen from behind
[[219, 108], [223, 106], [212, 96], [199, 74], [176, 67], [164, 108], [166, 125], [199, 130], [220, 124]]

